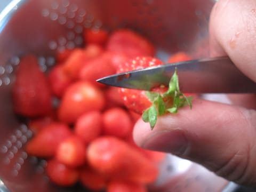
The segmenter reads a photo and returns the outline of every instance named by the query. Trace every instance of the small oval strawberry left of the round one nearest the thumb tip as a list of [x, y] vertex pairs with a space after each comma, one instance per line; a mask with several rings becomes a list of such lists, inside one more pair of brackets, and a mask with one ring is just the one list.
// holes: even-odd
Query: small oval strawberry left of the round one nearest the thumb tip
[[97, 138], [102, 130], [102, 115], [100, 111], [89, 111], [78, 117], [75, 123], [75, 134], [85, 144]]

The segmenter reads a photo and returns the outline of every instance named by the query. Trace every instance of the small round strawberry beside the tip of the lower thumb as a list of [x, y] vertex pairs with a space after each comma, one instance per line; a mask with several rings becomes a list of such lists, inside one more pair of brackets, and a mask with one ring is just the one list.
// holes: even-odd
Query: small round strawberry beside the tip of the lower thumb
[[121, 107], [110, 108], [102, 115], [103, 134], [126, 137], [132, 132], [133, 123], [129, 113]]

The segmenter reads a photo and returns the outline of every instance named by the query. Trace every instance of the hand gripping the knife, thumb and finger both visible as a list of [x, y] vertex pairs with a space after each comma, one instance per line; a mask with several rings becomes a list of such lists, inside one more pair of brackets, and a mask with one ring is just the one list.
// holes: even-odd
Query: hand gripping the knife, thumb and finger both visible
[[[228, 55], [256, 82], [256, 1], [219, 0], [210, 19], [211, 55]], [[153, 131], [139, 120], [143, 148], [190, 159], [243, 185], [256, 187], [256, 97], [229, 95], [233, 105], [196, 99], [193, 108], [158, 118]]]

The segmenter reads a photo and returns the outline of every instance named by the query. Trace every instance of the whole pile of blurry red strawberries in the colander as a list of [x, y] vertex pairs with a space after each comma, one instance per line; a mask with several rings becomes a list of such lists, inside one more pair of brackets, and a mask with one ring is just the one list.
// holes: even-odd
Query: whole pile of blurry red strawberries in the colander
[[[87, 29], [84, 42], [57, 53], [47, 74], [34, 55], [21, 58], [12, 96], [15, 113], [27, 117], [34, 133], [26, 151], [46, 159], [46, 174], [59, 186], [81, 182], [91, 190], [147, 191], [164, 154], [137, 147], [132, 129], [150, 101], [144, 91], [95, 80], [163, 62], [153, 58], [148, 39], [128, 29]], [[171, 61], [186, 57], [179, 53]]]

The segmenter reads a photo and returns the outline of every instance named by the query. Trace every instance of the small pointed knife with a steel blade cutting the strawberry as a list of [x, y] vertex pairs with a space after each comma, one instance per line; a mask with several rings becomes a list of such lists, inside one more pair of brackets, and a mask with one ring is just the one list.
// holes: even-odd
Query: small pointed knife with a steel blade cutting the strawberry
[[256, 93], [256, 83], [228, 57], [207, 58], [127, 71], [97, 82], [136, 90], [168, 85], [177, 68], [180, 90], [185, 93]]

